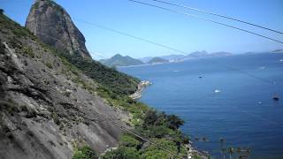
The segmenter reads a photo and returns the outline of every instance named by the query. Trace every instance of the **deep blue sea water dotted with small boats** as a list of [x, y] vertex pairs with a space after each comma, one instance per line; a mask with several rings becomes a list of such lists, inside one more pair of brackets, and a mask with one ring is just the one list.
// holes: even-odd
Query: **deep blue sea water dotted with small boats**
[[[219, 139], [224, 138], [226, 147], [251, 148], [249, 158], [277, 159], [283, 158], [280, 59], [283, 54], [211, 57], [119, 71], [150, 80], [153, 85], [140, 100], [183, 118], [182, 131], [212, 158], [222, 157]], [[279, 102], [273, 101], [274, 95]], [[194, 140], [203, 137], [209, 141]]]

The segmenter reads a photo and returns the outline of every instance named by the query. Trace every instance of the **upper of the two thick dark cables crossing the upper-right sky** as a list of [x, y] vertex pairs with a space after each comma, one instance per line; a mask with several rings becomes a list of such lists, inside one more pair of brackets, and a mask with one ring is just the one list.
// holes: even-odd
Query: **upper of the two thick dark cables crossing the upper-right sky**
[[244, 20], [241, 20], [241, 19], [235, 19], [235, 18], [232, 18], [232, 17], [228, 17], [228, 16], [223, 15], [223, 14], [218, 14], [218, 13], [211, 12], [211, 11], [204, 11], [204, 10], [200, 10], [200, 9], [197, 9], [197, 8], [194, 8], [194, 7], [190, 7], [190, 6], [187, 6], [187, 5], [175, 4], [175, 3], [165, 2], [165, 1], [161, 1], [161, 0], [151, 0], [151, 1], [155, 1], [155, 2], [161, 3], [161, 4], [169, 4], [169, 5], [173, 5], [173, 6], [178, 6], [178, 7], [181, 7], [181, 8], [188, 9], [188, 10], [200, 11], [200, 12], [203, 12], [203, 13], [207, 13], [207, 14], [210, 14], [210, 15], [217, 16], [217, 17], [221, 17], [221, 18], [225, 18], [225, 19], [231, 19], [231, 20], [234, 20], [234, 21], [238, 21], [238, 22], [241, 22], [241, 23], [244, 23], [244, 24], [248, 24], [248, 25], [250, 25], [250, 26], [260, 27], [260, 28], [262, 28], [262, 29], [272, 31], [272, 32], [274, 32], [274, 33], [283, 34], [282, 32], [280, 32], [280, 31], [278, 31], [278, 30], [274, 30], [274, 29], [269, 28], [269, 27], [259, 26], [259, 25], [256, 25], [256, 24], [254, 24], [254, 23], [250, 23], [250, 22], [247, 22], [247, 21], [244, 21]]

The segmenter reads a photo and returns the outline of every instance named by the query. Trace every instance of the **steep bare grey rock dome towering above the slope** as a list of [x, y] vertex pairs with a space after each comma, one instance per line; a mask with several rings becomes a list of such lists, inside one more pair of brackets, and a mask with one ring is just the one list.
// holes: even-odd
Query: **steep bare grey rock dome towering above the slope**
[[65, 9], [54, 1], [36, 0], [28, 14], [26, 27], [42, 42], [61, 51], [90, 57], [83, 34], [75, 27]]

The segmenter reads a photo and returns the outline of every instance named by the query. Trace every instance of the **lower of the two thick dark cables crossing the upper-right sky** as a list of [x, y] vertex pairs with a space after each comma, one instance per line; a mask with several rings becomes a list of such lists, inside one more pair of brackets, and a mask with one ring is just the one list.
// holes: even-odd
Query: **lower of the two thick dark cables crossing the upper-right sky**
[[148, 5], [148, 6], [151, 6], [151, 7], [155, 7], [155, 8], [158, 8], [158, 9], [162, 9], [162, 10], [164, 10], [164, 11], [172, 11], [172, 12], [175, 12], [175, 13], [183, 14], [183, 15], [185, 15], [185, 16], [187, 16], [187, 17], [193, 17], [193, 18], [195, 18], [195, 19], [203, 19], [203, 20], [205, 20], [205, 21], [210, 21], [210, 22], [212, 22], [212, 23], [215, 23], [215, 24], [218, 24], [218, 25], [221, 25], [221, 26], [225, 26], [225, 27], [231, 27], [231, 28], [233, 28], [233, 29], [240, 30], [240, 31], [242, 31], [242, 32], [246, 32], [246, 33], [249, 33], [249, 34], [254, 34], [254, 35], [259, 36], [259, 37], [262, 37], [262, 38], [264, 38], [264, 39], [268, 39], [268, 40], [271, 40], [271, 41], [273, 41], [273, 42], [279, 42], [279, 43], [283, 44], [283, 42], [281, 42], [281, 41], [279, 41], [279, 40], [276, 40], [276, 39], [273, 39], [273, 38], [271, 38], [271, 37], [265, 36], [265, 35], [263, 35], [263, 34], [256, 34], [256, 33], [251, 32], [251, 31], [249, 31], [249, 30], [242, 29], [242, 28], [240, 28], [240, 27], [233, 27], [232, 25], [228, 25], [228, 24], [225, 24], [225, 23], [222, 23], [222, 22], [218, 22], [218, 21], [216, 21], [216, 20], [206, 19], [206, 18], [203, 18], [203, 17], [200, 17], [200, 16], [196, 16], [196, 15], [194, 15], [194, 14], [189, 14], [189, 13], [183, 12], [183, 11], [172, 10], [172, 9], [165, 8], [165, 7], [163, 7], [163, 6], [159, 6], [159, 5], [155, 5], [155, 4], [143, 3], [143, 2], [135, 1], [135, 0], [128, 0], [128, 1], [134, 2], [134, 3], [136, 3], [136, 4]]

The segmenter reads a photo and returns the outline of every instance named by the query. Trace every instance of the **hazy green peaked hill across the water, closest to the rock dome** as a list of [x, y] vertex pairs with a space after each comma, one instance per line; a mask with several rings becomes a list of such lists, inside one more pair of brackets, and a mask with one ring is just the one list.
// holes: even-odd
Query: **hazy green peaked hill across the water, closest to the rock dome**
[[120, 54], [117, 54], [109, 59], [102, 59], [99, 62], [109, 67], [144, 64], [141, 60], [129, 56], [123, 57]]

